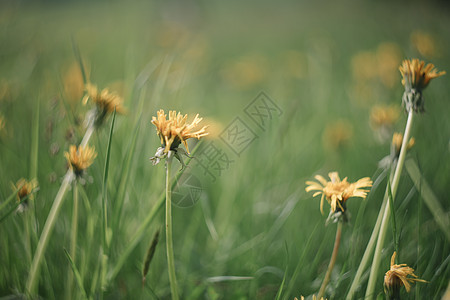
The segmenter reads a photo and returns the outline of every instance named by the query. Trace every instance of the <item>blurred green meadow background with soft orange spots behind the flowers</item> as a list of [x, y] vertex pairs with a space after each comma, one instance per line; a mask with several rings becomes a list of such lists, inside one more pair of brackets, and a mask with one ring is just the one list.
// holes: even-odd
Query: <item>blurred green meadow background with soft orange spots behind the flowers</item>
[[[63, 153], [84, 133], [89, 107], [81, 103], [74, 47], [89, 80], [119, 92], [128, 110], [117, 116], [112, 140], [111, 215], [118, 214], [120, 183], [126, 192], [120, 224], [111, 225], [110, 268], [164, 191], [164, 167], [148, 159], [159, 147], [151, 117], [161, 108], [191, 118], [199, 113], [214, 131], [209, 140], [234, 162], [215, 181], [193, 164], [202, 195], [193, 206], [173, 209], [182, 298], [273, 299], [286, 275], [283, 297], [293, 299], [317, 293], [336, 226], [325, 226], [320, 199], [304, 192], [305, 181], [330, 171], [349, 181], [378, 178], [392, 133], [402, 132], [406, 122], [398, 66], [417, 57], [450, 70], [449, 12], [444, 1], [2, 1], [0, 201], [22, 177], [36, 176], [40, 190], [33, 211], [0, 223], [0, 295], [24, 293], [37, 239], [67, 170]], [[264, 130], [244, 111], [261, 91], [283, 112]], [[426, 112], [416, 118], [416, 145], [409, 153], [447, 216], [449, 93], [448, 75], [427, 88]], [[377, 122], [380, 106], [393, 106], [393, 117]], [[240, 156], [217, 138], [236, 117], [258, 136]], [[100, 195], [109, 124], [91, 140], [98, 158], [83, 186], [79, 219], [76, 261], [95, 299], [101, 294]], [[131, 167], [124, 179], [127, 158]], [[346, 295], [384, 187], [385, 180], [374, 186], [367, 201], [349, 200], [353, 217], [344, 227], [328, 299]], [[81, 297], [76, 285], [68, 291], [72, 271], [63, 252], [70, 247], [71, 203], [69, 192], [45, 254], [39, 284], [44, 299]], [[395, 211], [400, 262], [429, 281], [416, 284], [409, 296], [441, 299], [449, 283], [449, 241], [406, 172]], [[104, 298], [170, 297], [164, 234], [142, 284], [146, 251], [163, 223], [159, 213]], [[391, 230], [385, 244], [377, 294], [383, 293], [393, 252]], [[357, 298], [364, 295], [367, 276]]]

